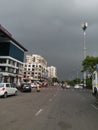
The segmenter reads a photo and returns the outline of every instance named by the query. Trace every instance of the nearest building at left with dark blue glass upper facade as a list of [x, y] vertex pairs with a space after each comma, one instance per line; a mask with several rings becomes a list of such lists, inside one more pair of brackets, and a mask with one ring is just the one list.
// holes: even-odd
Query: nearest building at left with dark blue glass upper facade
[[27, 49], [0, 25], [0, 82], [22, 81], [25, 51]]

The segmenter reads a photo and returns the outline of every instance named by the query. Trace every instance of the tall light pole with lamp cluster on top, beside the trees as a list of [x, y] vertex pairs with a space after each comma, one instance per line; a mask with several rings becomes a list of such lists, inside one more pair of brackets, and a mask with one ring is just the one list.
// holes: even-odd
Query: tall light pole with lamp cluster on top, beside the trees
[[[84, 59], [86, 58], [86, 42], [85, 42], [85, 38], [86, 38], [86, 29], [88, 27], [88, 23], [87, 22], [84, 22], [82, 24], [82, 29], [83, 29], [83, 36], [84, 36], [84, 42], [83, 42], [83, 53], [84, 53]], [[86, 87], [86, 71], [83, 73], [83, 81], [84, 81], [84, 87]]]

